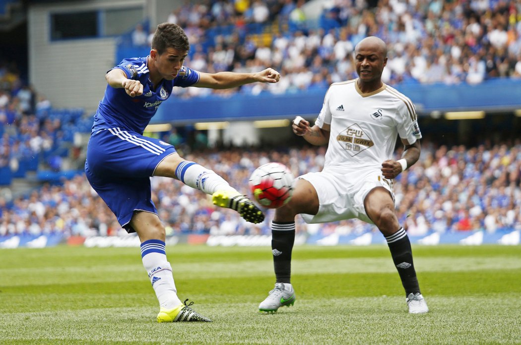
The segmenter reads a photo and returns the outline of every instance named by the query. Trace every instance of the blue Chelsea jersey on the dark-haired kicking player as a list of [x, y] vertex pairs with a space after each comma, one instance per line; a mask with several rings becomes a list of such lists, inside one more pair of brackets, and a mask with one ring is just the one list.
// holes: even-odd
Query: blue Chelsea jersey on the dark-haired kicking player
[[199, 81], [199, 72], [183, 66], [173, 80], [162, 80], [155, 90], [148, 78], [147, 57], [124, 59], [119, 68], [128, 79], [139, 80], [143, 85], [143, 94], [130, 97], [124, 88], [107, 85], [105, 96], [94, 115], [92, 132], [101, 129], [120, 127], [122, 129], [143, 133], [146, 125], [157, 111], [157, 107], [172, 93], [174, 86], [187, 87]]

